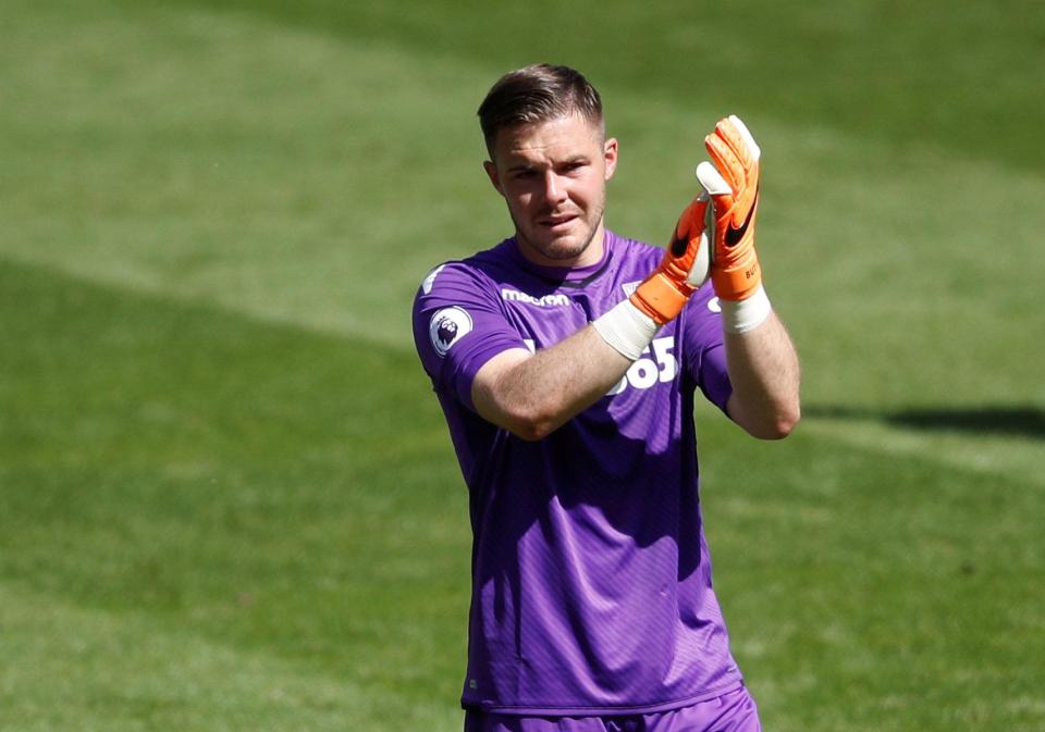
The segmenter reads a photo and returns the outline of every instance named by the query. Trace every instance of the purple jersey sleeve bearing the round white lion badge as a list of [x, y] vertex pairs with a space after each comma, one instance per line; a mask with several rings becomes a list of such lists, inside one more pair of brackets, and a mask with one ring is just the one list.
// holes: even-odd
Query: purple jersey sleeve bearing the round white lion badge
[[496, 284], [464, 262], [435, 268], [414, 300], [414, 344], [437, 390], [475, 411], [471, 383], [491, 358], [526, 348]]

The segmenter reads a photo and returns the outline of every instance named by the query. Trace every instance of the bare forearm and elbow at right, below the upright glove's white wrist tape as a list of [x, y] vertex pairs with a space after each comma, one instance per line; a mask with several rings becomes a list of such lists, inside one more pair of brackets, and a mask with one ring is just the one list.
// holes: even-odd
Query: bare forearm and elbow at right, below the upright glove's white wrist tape
[[726, 333], [729, 418], [762, 439], [786, 437], [800, 417], [798, 355], [776, 313], [746, 333]]

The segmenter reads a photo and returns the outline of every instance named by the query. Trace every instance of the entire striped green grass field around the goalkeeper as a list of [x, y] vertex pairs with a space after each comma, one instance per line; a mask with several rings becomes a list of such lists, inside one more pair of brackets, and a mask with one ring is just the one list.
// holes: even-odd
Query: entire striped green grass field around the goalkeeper
[[698, 431], [766, 729], [1045, 729], [1043, 8], [7, 0], [0, 730], [459, 729], [409, 307], [507, 233], [475, 109], [545, 59], [603, 92], [623, 234], [718, 116], [764, 150], [806, 417]]

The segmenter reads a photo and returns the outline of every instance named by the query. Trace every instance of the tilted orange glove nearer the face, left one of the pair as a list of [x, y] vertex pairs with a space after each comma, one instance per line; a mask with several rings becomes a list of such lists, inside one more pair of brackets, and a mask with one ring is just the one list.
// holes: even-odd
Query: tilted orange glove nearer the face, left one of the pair
[[657, 325], [675, 319], [689, 296], [708, 280], [710, 245], [706, 234], [706, 194], [683, 211], [664, 258], [652, 274], [636, 288], [631, 302]]

